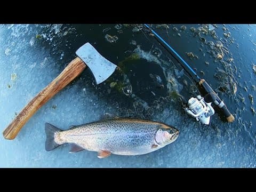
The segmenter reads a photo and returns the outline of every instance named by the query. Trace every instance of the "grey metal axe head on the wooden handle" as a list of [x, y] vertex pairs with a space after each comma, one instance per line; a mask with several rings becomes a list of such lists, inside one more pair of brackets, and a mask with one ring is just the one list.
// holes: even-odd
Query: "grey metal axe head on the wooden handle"
[[102, 57], [90, 43], [85, 43], [81, 46], [76, 51], [76, 55], [82, 59], [92, 71], [97, 85], [110, 77], [116, 69], [116, 65]]

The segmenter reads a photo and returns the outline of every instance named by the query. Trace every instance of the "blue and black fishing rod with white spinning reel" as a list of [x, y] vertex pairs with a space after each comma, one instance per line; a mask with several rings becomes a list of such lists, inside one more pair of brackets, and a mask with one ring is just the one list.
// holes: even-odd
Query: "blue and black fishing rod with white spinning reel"
[[229, 112], [227, 106], [219, 98], [217, 93], [215, 93], [212, 87], [205, 81], [205, 79], [200, 78], [196, 72], [188, 65], [188, 63], [183, 60], [180, 55], [169, 45], [164, 39], [159, 36], [156, 31], [154, 31], [148, 24], [144, 24], [144, 26], [150, 30], [150, 32], [154, 35], [159, 43], [161, 43], [169, 53], [171, 53], [175, 59], [182, 61], [180, 63], [181, 67], [187, 71], [187, 73], [194, 79], [196, 83], [198, 83], [199, 88], [203, 88], [206, 92], [204, 98], [201, 95], [197, 95], [197, 98], [190, 98], [188, 100], [188, 108], [186, 108], [186, 112], [197, 119], [197, 121], [201, 121], [203, 124], [209, 125], [210, 116], [214, 114], [214, 109], [211, 107], [211, 103], [213, 102], [215, 106], [217, 106], [221, 113], [226, 117], [228, 122], [233, 122], [235, 117]]

